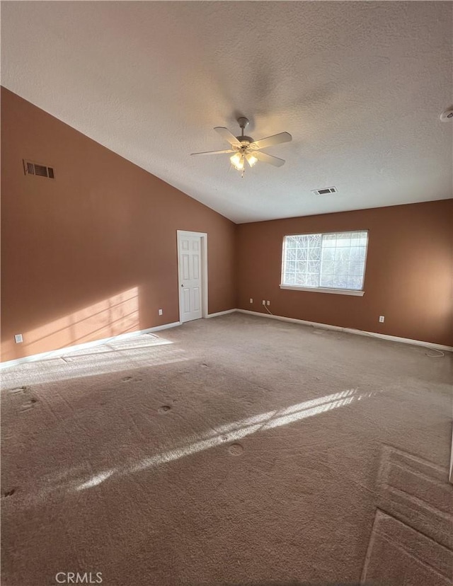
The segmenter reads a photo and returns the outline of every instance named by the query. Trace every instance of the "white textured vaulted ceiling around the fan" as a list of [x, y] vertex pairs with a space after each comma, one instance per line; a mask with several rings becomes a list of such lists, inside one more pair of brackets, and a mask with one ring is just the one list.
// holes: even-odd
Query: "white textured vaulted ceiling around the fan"
[[[3, 2], [2, 84], [235, 222], [452, 197], [450, 2]], [[244, 178], [215, 126], [287, 131]], [[237, 132], [236, 132], [237, 130]], [[312, 189], [335, 185], [338, 194]]]

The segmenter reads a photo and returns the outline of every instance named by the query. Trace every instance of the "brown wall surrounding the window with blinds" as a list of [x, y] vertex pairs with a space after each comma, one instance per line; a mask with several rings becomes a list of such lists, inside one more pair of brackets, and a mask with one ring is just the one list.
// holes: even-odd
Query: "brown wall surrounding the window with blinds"
[[[453, 345], [452, 220], [442, 200], [241, 224], [238, 307], [263, 312], [269, 299], [278, 316]], [[369, 230], [363, 297], [280, 289], [285, 234], [359, 229]]]

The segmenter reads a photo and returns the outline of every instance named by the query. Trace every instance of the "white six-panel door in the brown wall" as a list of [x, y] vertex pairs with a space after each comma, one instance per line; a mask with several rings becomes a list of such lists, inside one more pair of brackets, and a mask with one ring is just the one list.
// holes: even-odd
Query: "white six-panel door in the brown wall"
[[202, 237], [178, 231], [179, 320], [202, 317]]

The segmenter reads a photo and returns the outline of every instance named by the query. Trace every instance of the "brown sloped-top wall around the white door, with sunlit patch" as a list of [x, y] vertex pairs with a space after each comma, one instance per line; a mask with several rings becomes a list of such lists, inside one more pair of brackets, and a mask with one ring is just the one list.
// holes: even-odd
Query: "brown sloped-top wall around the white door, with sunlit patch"
[[4, 88], [1, 207], [1, 360], [178, 321], [177, 229], [208, 234], [210, 313], [236, 304], [232, 222]]

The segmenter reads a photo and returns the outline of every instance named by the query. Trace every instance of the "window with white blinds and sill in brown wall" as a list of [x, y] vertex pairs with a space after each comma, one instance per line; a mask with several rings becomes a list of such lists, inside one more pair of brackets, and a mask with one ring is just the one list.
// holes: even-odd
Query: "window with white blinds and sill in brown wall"
[[285, 236], [280, 287], [363, 295], [367, 243], [366, 230]]

